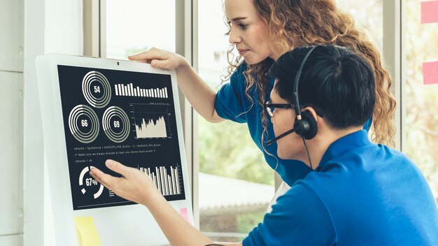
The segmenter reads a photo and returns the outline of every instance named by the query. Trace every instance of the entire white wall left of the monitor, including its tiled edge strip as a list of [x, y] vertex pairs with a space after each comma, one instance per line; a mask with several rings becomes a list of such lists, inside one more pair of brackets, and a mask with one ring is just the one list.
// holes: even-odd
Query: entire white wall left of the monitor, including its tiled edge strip
[[43, 245], [43, 141], [35, 57], [81, 55], [82, 39], [82, 1], [0, 1], [1, 246]]

